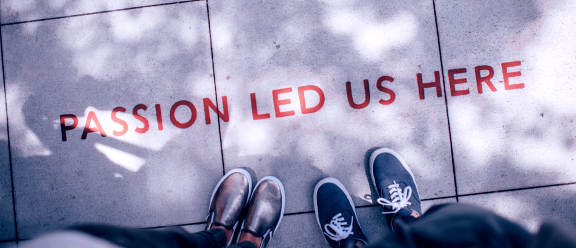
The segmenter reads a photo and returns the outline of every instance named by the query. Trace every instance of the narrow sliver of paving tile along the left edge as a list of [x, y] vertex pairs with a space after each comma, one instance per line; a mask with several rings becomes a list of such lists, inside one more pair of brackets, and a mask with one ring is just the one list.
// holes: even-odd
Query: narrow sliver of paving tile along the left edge
[[[0, 61], [0, 75], [2, 62]], [[0, 99], [4, 98], [4, 87], [0, 86]], [[8, 129], [6, 127], [6, 104], [0, 101], [0, 241], [16, 239], [14, 229], [14, 205], [12, 205], [12, 181], [8, 154]]]

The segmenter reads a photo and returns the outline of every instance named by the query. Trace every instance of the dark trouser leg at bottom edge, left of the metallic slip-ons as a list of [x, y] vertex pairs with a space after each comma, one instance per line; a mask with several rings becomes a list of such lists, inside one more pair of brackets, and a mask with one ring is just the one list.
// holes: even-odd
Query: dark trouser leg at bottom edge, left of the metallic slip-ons
[[168, 248], [201, 247], [220, 248], [226, 246], [226, 232], [221, 228], [195, 232], [181, 227], [166, 227], [155, 230], [122, 228], [105, 225], [71, 227], [70, 230], [85, 232], [122, 247]]

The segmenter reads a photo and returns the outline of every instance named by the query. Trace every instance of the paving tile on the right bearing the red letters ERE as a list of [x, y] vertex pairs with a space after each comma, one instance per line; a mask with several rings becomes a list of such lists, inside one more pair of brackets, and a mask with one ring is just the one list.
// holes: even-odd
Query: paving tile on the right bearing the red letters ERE
[[[446, 91], [449, 70], [466, 70], [451, 71], [463, 95], [448, 97], [458, 193], [576, 181], [576, 2], [436, 7]], [[495, 91], [482, 82], [478, 93], [477, 66], [493, 69]], [[480, 81], [489, 76], [482, 68]]]

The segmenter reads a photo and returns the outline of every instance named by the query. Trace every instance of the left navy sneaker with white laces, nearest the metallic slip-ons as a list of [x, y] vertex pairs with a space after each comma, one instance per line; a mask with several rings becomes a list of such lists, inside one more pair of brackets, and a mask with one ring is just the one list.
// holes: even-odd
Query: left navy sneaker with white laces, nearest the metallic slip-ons
[[314, 212], [330, 247], [355, 247], [368, 243], [350, 194], [336, 178], [324, 178], [316, 184]]

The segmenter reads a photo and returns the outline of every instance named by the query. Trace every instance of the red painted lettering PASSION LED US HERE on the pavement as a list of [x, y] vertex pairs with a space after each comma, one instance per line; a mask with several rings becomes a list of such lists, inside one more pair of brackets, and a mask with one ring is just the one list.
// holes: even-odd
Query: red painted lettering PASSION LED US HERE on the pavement
[[[520, 65], [521, 65], [520, 61], [507, 62], [507, 63], [501, 64], [503, 83], [504, 83], [504, 89], [505, 90], [523, 89], [524, 88], [524, 83], [511, 84], [509, 81], [510, 78], [520, 77], [522, 74], [520, 73], [520, 71], [510, 72], [510, 71], [508, 71], [508, 69], [510, 67], [516, 67], [516, 66], [520, 66]], [[494, 68], [492, 68], [491, 66], [484, 65], [484, 66], [476, 66], [473, 68], [473, 70], [475, 73], [476, 89], [478, 90], [478, 94], [483, 93], [484, 85], [486, 85], [488, 87], [488, 89], [490, 89], [491, 91], [497, 91], [496, 87], [494, 87], [494, 83], [492, 83], [492, 81], [491, 81], [492, 78], [494, 77]], [[456, 96], [464, 96], [464, 95], [470, 94], [470, 90], [468, 88], [456, 90], [456, 85], [460, 85], [460, 84], [464, 84], [464, 83], [468, 82], [467, 78], [458, 77], [458, 74], [463, 74], [466, 72], [467, 72], [467, 68], [457, 68], [457, 69], [448, 70], [448, 83], [450, 86], [450, 96], [456, 97]], [[486, 74], [486, 75], [482, 76], [483, 74]], [[395, 101], [396, 94], [394, 93], [393, 90], [389, 89], [388, 87], [385, 87], [383, 85], [384, 82], [393, 83], [394, 78], [389, 77], [389, 76], [382, 76], [382, 77], [377, 79], [376, 88], [379, 91], [388, 94], [388, 96], [389, 96], [388, 100], [381, 99], [378, 101], [378, 103], [380, 103], [382, 105], [390, 105]], [[436, 96], [442, 97], [442, 86], [441, 86], [441, 82], [440, 82], [439, 71], [434, 71], [434, 82], [427, 82], [427, 83], [423, 82], [421, 73], [416, 74], [416, 83], [418, 85], [418, 95], [419, 95], [420, 100], [425, 99], [425, 94], [424, 94], [425, 91], [424, 90], [427, 88], [434, 88], [436, 91]], [[363, 108], [366, 108], [366, 106], [368, 106], [370, 104], [370, 87], [369, 87], [368, 79], [364, 79], [363, 86], [364, 86], [364, 101], [361, 103], [357, 103], [354, 101], [354, 99], [352, 97], [351, 82], [346, 82], [346, 96], [348, 99], [348, 105], [350, 105], [351, 108], [363, 109]], [[462, 86], [460, 86], [460, 87], [462, 87]], [[325, 102], [324, 91], [322, 89], [320, 89], [320, 87], [315, 86], [315, 85], [306, 85], [306, 86], [297, 87], [295, 90], [298, 92], [298, 100], [300, 102], [300, 112], [302, 114], [306, 115], [306, 114], [318, 112], [324, 106], [324, 102]], [[291, 87], [272, 90], [272, 104], [274, 105], [274, 114], [275, 114], [276, 118], [295, 115], [295, 110], [281, 111], [281, 109], [280, 109], [280, 107], [282, 105], [291, 104], [291, 100], [289, 98], [282, 98], [281, 94], [290, 93], [292, 91], [293, 91], [293, 88], [291, 88]], [[311, 92], [317, 94], [317, 96], [319, 98], [318, 104], [316, 104], [315, 106], [306, 106], [306, 99], [305, 99], [305, 92], [306, 91], [311, 91]], [[256, 93], [250, 94], [250, 102], [251, 102], [251, 107], [252, 107], [252, 119], [253, 120], [262, 120], [262, 119], [270, 119], [271, 118], [270, 113], [260, 113], [258, 111], [258, 104], [256, 101]], [[164, 129], [164, 120], [162, 120], [162, 107], [160, 106], [160, 104], [156, 104], [154, 107], [156, 110], [156, 121], [158, 123], [158, 130], [161, 131], [162, 129]], [[175, 115], [176, 109], [180, 108], [180, 107], [181, 108], [187, 108], [188, 110], [190, 110], [191, 117], [189, 120], [177, 120], [176, 119], [176, 115]], [[222, 97], [223, 112], [220, 112], [218, 110], [218, 108], [216, 107], [216, 105], [214, 104], [214, 102], [212, 102], [212, 100], [210, 100], [210, 98], [208, 98], [208, 97], [203, 99], [203, 107], [204, 107], [204, 119], [205, 119], [207, 125], [211, 124], [210, 109], [212, 109], [215, 113], [217, 113], [218, 117], [221, 120], [223, 120], [225, 122], [228, 122], [230, 120], [230, 114], [228, 112], [228, 98], [226, 96]], [[139, 111], [146, 111], [147, 109], [148, 109], [148, 106], [146, 106], [144, 104], [138, 104], [138, 105], [134, 106], [134, 108], [132, 108], [132, 116], [136, 120], [140, 121], [143, 124], [143, 127], [134, 128], [134, 131], [137, 133], [145, 133], [150, 128], [149, 120], [146, 119], [146, 117], [139, 114]], [[126, 134], [126, 132], [128, 132], [129, 128], [128, 128], [128, 124], [126, 123], [126, 121], [120, 119], [117, 116], [118, 112], [125, 113], [126, 111], [127, 111], [127, 109], [123, 108], [121, 106], [116, 107], [112, 110], [112, 113], [110, 116], [112, 118], [112, 121], [114, 121], [115, 123], [118, 123], [122, 126], [122, 129], [120, 129], [119, 131], [118, 130], [113, 131], [112, 135], [122, 136], [122, 135]], [[190, 102], [190, 101], [186, 101], [186, 100], [177, 101], [175, 104], [173, 104], [170, 107], [170, 114], [169, 114], [170, 123], [172, 123], [172, 125], [174, 125], [177, 128], [189, 128], [189, 127], [191, 127], [196, 121], [196, 115], [197, 115], [196, 106], [194, 104], [192, 104], [192, 102]], [[71, 124], [66, 125], [66, 120], [71, 120]], [[92, 125], [94, 125], [94, 127], [92, 127]], [[60, 131], [62, 132], [62, 141], [67, 140], [66, 131], [70, 131], [70, 130], [76, 128], [77, 126], [78, 126], [78, 117], [77, 116], [72, 115], [72, 114], [60, 115]], [[100, 135], [102, 137], [107, 136], [107, 133], [104, 132], [104, 128], [100, 124], [100, 121], [98, 121], [98, 117], [96, 116], [96, 113], [94, 111], [88, 112], [88, 115], [86, 116], [86, 122], [84, 124], [84, 131], [82, 132], [81, 139], [88, 138], [88, 133], [92, 133], [92, 132], [100, 133]]]

